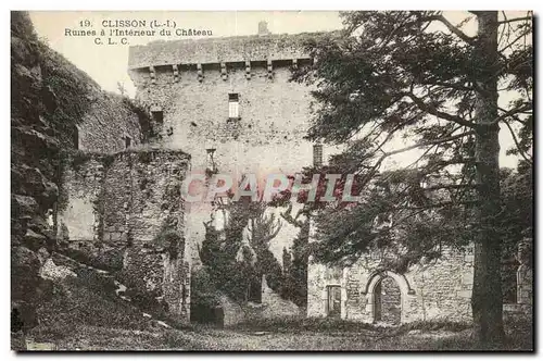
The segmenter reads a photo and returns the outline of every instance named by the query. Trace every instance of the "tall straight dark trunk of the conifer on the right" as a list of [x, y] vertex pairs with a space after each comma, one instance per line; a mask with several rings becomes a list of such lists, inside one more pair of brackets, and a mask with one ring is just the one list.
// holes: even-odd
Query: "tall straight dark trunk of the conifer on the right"
[[500, 213], [500, 126], [497, 119], [497, 12], [477, 12], [478, 37], [473, 49], [477, 86], [476, 164], [478, 184], [477, 236], [471, 307], [475, 336], [481, 345], [501, 344], [501, 248], [496, 232]]

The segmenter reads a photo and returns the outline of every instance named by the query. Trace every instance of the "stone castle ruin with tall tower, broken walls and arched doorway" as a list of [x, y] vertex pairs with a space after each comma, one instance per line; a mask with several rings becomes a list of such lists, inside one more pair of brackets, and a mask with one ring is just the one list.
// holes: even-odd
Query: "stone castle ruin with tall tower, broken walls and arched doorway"
[[[185, 202], [181, 183], [189, 173], [240, 178], [294, 174], [323, 163], [323, 146], [304, 139], [311, 87], [289, 82], [293, 69], [313, 62], [303, 40], [318, 36], [269, 34], [261, 23], [254, 36], [130, 47], [136, 101], [150, 116], [141, 122], [127, 111], [108, 119], [97, 109], [77, 126], [78, 151], [60, 165], [56, 238], [97, 267], [115, 270], [128, 287], [144, 289], [171, 314], [190, 320], [198, 247], [217, 214], [209, 204]], [[293, 206], [295, 212], [300, 206]], [[269, 212], [280, 219], [280, 210]], [[282, 223], [270, 244], [278, 260], [299, 232]], [[517, 302], [528, 307], [532, 269], [522, 247]], [[311, 263], [306, 315], [387, 324], [471, 320], [469, 249], [446, 251], [403, 274], [378, 264], [375, 254], [341, 269]], [[266, 315], [280, 314], [285, 300], [263, 284]], [[520, 312], [516, 304], [505, 308]]]

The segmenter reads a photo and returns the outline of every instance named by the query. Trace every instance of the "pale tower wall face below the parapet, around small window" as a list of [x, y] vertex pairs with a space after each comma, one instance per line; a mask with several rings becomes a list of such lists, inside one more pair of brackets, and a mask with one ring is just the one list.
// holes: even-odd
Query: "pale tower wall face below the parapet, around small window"
[[[130, 74], [138, 101], [163, 112], [163, 124], [153, 124], [154, 141], [189, 152], [192, 173], [204, 173], [210, 165], [206, 149], [216, 149], [216, 169], [231, 175], [236, 185], [244, 173], [256, 173], [263, 180], [270, 173], [300, 172], [313, 161], [313, 144], [303, 139], [311, 89], [289, 82], [292, 60], [272, 65], [272, 78], [266, 62], [251, 62], [250, 78], [244, 63], [226, 63], [226, 76], [218, 63], [203, 64], [201, 75], [193, 64], [180, 65], [177, 76], [172, 66], [154, 66], [154, 73], [137, 69]], [[229, 119], [229, 94], [239, 94], [240, 119]], [[279, 216], [281, 210], [270, 211]], [[194, 245], [204, 238], [203, 222], [210, 220], [210, 212], [207, 203], [187, 204], [187, 237]], [[279, 262], [282, 248], [298, 233], [299, 228], [283, 222], [270, 245]]]

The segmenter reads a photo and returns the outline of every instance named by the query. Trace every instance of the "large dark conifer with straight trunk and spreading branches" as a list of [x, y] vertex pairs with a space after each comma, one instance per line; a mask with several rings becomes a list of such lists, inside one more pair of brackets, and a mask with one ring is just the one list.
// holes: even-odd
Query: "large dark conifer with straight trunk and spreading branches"
[[[345, 29], [308, 41], [315, 64], [293, 75], [316, 88], [307, 137], [346, 145], [332, 161], [357, 174], [366, 198], [364, 204], [319, 212], [326, 214], [317, 220], [327, 245], [321, 259], [392, 247], [391, 225], [405, 226], [397, 217], [412, 222], [452, 213], [475, 240], [475, 334], [483, 344], [500, 343], [498, 132], [500, 125], [510, 132], [513, 152], [531, 164], [532, 14], [509, 18], [477, 11], [457, 23], [434, 11], [342, 16]], [[476, 35], [466, 32], [469, 24]], [[411, 144], [399, 147], [402, 138]], [[419, 152], [414, 162], [381, 172], [390, 158], [413, 150]], [[430, 231], [421, 225], [420, 232]], [[437, 238], [427, 238], [424, 247], [402, 245], [405, 253], [415, 259], [438, 250], [439, 257]]]

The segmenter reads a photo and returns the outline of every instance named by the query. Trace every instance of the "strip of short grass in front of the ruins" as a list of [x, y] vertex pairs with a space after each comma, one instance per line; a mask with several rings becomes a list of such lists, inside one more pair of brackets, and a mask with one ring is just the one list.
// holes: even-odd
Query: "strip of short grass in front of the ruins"
[[[205, 327], [195, 327], [192, 331], [148, 327], [138, 331], [76, 325], [64, 338], [58, 339], [56, 345], [61, 350], [485, 350], [472, 341], [470, 329], [406, 332], [395, 335], [380, 332], [330, 334], [325, 331], [255, 334], [241, 329]], [[509, 343], [501, 349], [529, 350], [530, 348]]]

